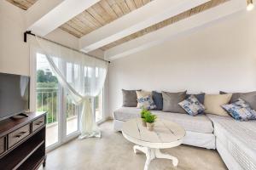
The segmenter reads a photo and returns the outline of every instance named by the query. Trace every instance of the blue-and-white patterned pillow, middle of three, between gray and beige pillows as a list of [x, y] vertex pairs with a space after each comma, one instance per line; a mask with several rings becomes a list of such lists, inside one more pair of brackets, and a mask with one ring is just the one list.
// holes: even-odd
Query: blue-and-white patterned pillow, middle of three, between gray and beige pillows
[[190, 95], [188, 99], [184, 99], [178, 103], [187, 113], [191, 116], [196, 116], [205, 111], [204, 105], [202, 105], [195, 95]]

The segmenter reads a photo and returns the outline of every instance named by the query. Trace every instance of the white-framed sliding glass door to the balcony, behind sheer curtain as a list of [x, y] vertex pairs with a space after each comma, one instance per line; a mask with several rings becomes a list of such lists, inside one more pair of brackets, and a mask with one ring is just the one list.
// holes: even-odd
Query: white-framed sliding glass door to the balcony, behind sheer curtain
[[[34, 59], [34, 60], [33, 60]], [[61, 88], [44, 54], [35, 50], [32, 59], [32, 85], [35, 93], [32, 92], [32, 99], [36, 101], [36, 111], [47, 111], [46, 126], [46, 147], [52, 150], [55, 147], [73, 139], [79, 135], [79, 115], [82, 109], [73, 102], [67, 92]], [[58, 63], [66, 72], [67, 82], [73, 83], [79, 78], [78, 65], [71, 63]], [[35, 67], [35, 68], [33, 68]], [[93, 74], [90, 67], [83, 70], [84, 77], [91, 77]], [[94, 73], [97, 74], [97, 71]], [[34, 75], [34, 76], [33, 76]], [[86, 85], [86, 82], [84, 82]], [[93, 110], [95, 111], [96, 122], [102, 122], [103, 111], [103, 90], [94, 100]], [[33, 103], [33, 102], [32, 102]]]

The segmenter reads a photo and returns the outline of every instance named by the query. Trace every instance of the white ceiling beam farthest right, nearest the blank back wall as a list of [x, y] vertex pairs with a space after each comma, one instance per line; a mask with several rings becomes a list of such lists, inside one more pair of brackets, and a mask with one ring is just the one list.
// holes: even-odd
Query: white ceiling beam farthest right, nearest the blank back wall
[[138, 37], [129, 42], [122, 43], [119, 46], [110, 48], [104, 54], [105, 59], [119, 59], [129, 54], [137, 53], [146, 48], [166, 42], [177, 35], [191, 31], [199, 26], [205, 26], [212, 21], [241, 11], [245, 9], [246, 6], [247, 3], [243, 0], [231, 0], [227, 3], [220, 4], [215, 8], [210, 8], [204, 12], [195, 14], [170, 26], [165, 26], [157, 31], [150, 32], [143, 37]]

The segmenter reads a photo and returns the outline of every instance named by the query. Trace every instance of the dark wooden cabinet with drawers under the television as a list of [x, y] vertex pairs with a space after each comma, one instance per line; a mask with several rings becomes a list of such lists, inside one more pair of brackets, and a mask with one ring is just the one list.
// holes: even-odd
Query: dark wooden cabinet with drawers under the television
[[0, 169], [38, 169], [45, 165], [45, 112], [0, 122]]

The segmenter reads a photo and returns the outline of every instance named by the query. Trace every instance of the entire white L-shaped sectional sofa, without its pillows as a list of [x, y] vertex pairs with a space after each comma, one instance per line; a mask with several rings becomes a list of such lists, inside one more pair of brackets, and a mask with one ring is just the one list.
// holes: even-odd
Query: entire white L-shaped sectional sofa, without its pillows
[[[136, 107], [114, 111], [113, 128], [121, 131], [123, 122], [140, 116]], [[232, 117], [152, 111], [159, 118], [177, 122], [186, 130], [183, 144], [217, 149], [230, 170], [256, 170], [256, 122], [238, 122]]]

